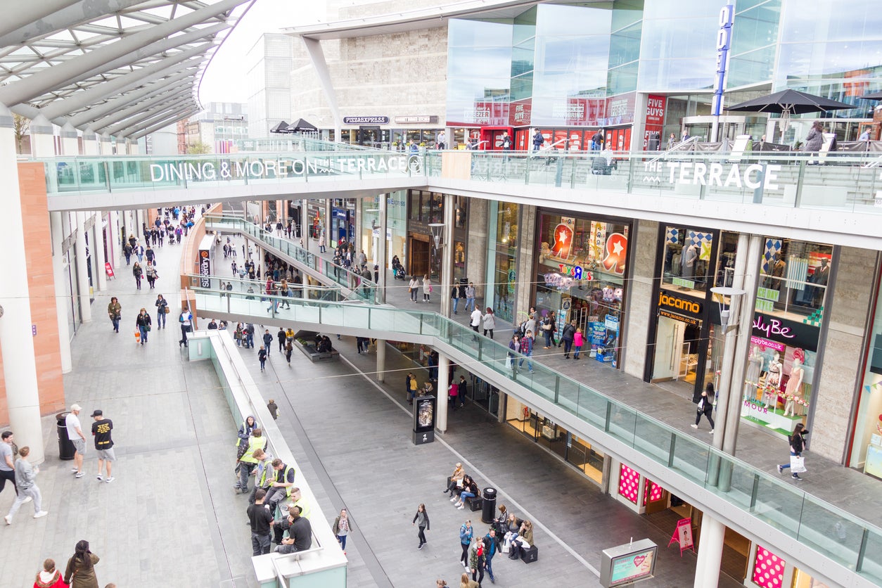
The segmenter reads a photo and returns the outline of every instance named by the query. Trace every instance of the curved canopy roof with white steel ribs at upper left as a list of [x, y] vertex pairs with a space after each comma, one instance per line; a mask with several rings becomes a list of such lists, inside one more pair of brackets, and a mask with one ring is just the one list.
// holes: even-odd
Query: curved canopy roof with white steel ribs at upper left
[[0, 104], [138, 138], [200, 109], [214, 51], [256, 0], [29, 0], [0, 22]]

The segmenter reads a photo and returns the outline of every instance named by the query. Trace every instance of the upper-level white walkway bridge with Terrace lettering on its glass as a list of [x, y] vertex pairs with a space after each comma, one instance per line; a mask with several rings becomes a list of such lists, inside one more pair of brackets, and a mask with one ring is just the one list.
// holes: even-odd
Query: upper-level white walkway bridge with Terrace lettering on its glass
[[[408, 188], [683, 226], [882, 249], [871, 154], [399, 153], [295, 142], [294, 151], [56, 157], [50, 211], [237, 199], [369, 197]], [[820, 165], [824, 164], [824, 165]]]

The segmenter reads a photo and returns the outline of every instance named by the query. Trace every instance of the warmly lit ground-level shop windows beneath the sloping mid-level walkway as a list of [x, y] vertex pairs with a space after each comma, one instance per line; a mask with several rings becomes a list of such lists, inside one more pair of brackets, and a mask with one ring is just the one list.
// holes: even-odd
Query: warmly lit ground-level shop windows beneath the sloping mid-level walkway
[[605, 456], [587, 439], [574, 435], [562, 425], [511, 396], [505, 401], [505, 422], [527, 435], [534, 443], [539, 443], [557, 454], [589, 480], [602, 485]]

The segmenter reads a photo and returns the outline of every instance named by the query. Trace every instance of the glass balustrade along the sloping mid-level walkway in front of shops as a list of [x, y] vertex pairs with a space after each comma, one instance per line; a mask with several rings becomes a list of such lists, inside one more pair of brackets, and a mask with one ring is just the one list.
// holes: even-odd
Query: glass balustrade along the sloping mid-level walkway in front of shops
[[[476, 335], [466, 325], [434, 312], [377, 307], [346, 302], [285, 299], [290, 309], [276, 309], [277, 296], [249, 297], [195, 288], [197, 308], [206, 314], [228, 312], [262, 320], [270, 316], [327, 326], [346, 326], [371, 333], [430, 336], [435, 344], [457, 349], [482, 361], [499, 380], [519, 385], [584, 421], [586, 436], [594, 428], [661, 464], [685, 480], [698, 484], [721, 500], [863, 577], [882, 582], [882, 530], [832, 504], [789, 485], [777, 475], [758, 470], [740, 459], [715, 450], [691, 435], [607, 398], [539, 361], [514, 353], [502, 343]], [[507, 361], [510, 354], [513, 361]], [[529, 371], [532, 361], [533, 372]], [[505, 387], [505, 386], [503, 386]], [[522, 393], [522, 392], [520, 392]]]

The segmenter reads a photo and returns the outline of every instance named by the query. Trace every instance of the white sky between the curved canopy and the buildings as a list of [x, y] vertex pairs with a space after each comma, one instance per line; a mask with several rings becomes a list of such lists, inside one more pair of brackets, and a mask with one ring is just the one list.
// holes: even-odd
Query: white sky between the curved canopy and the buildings
[[245, 56], [260, 35], [324, 18], [325, 0], [257, 0], [215, 52], [199, 86], [199, 101], [247, 102]]

